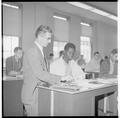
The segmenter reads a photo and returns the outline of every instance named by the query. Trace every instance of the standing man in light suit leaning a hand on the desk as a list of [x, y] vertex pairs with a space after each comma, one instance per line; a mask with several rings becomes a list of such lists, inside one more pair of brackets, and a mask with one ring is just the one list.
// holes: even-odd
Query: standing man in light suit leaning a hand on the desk
[[21, 98], [27, 116], [39, 115], [38, 83], [56, 84], [61, 79], [60, 76], [50, 74], [47, 71], [46, 60], [44, 59], [43, 47], [51, 42], [52, 30], [48, 26], [41, 25], [36, 30], [35, 37], [33, 46], [25, 53], [23, 59], [24, 82]]

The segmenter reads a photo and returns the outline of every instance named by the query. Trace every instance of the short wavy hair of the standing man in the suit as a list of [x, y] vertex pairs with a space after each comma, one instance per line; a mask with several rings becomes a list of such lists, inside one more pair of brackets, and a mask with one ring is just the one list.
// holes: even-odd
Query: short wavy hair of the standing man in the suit
[[43, 32], [43, 33], [46, 33], [46, 32], [52, 33], [52, 29], [49, 26], [40, 25], [37, 28], [36, 32], [35, 32], [35, 37], [37, 38], [38, 34], [40, 34], [41, 32]]

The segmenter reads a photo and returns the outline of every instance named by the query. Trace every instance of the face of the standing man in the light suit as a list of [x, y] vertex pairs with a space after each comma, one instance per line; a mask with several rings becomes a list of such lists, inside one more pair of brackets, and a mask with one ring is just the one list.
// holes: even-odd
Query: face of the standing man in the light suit
[[49, 32], [41, 33], [40, 35], [38, 35], [38, 39], [39, 39], [38, 42], [43, 47], [47, 47], [48, 43], [51, 42], [51, 37], [52, 37], [52, 34]]

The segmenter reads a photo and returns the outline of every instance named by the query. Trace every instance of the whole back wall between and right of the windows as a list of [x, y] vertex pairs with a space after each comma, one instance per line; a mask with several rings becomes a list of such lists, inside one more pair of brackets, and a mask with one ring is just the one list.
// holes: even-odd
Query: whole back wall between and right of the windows
[[[69, 41], [76, 45], [77, 55], [80, 52], [80, 21], [81, 17], [44, 6], [41, 3], [23, 3], [23, 49], [26, 51], [33, 43], [34, 33], [40, 24], [48, 25], [54, 31], [52, 15], [54, 12], [70, 16]], [[102, 56], [117, 47], [117, 29], [115, 26], [103, 22], [93, 23], [93, 37], [91, 37], [92, 51], [100, 51]], [[108, 44], [109, 43], [109, 44]], [[52, 52], [53, 41], [44, 49], [45, 55]]]

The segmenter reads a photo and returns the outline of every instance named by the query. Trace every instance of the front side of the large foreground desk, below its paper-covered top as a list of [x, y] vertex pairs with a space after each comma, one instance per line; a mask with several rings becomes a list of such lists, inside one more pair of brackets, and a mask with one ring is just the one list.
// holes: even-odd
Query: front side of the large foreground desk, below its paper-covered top
[[[104, 84], [98, 88], [69, 90], [39, 86], [38, 110], [40, 116], [95, 116], [99, 96], [110, 96], [110, 111], [116, 116], [115, 92], [117, 84]], [[97, 101], [99, 103], [99, 101]], [[98, 112], [98, 111], [97, 111]], [[98, 115], [98, 113], [97, 113]]]

